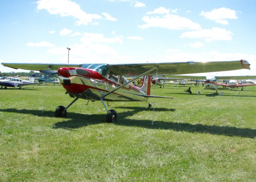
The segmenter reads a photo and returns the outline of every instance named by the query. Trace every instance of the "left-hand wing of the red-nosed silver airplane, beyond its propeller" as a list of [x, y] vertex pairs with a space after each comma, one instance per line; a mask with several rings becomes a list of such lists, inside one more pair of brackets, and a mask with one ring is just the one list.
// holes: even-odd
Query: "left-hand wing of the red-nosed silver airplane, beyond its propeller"
[[73, 64], [52, 64], [52, 63], [2, 63], [2, 65], [14, 69], [24, 69], [24, 70], [58, 70], [58, 68], [63, 67], [82, 67], [80, 65], [73, 65]]

